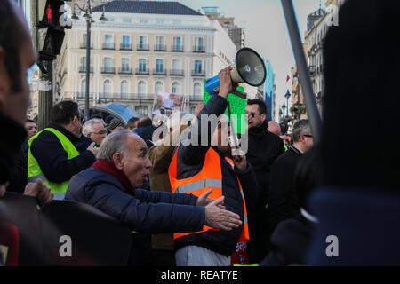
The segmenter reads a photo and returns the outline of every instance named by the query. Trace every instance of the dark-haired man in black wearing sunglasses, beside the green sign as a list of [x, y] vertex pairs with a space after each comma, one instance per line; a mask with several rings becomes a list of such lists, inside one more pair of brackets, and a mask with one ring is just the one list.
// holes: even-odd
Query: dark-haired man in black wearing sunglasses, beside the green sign
[[250, 224], [249, 256], [251, 263], [258, 263], [268, 253], [268, 240], [271, 232], [268, 214], [269, 173], [272, 163], [284, 153], [281, 138], [268, 130], [266, 122], [267, 106], [260, 99], [249, 99], [246, 116], [249, 128], [247, 161], [252, 164], [259, 198], [255, 204], [248, 204]]

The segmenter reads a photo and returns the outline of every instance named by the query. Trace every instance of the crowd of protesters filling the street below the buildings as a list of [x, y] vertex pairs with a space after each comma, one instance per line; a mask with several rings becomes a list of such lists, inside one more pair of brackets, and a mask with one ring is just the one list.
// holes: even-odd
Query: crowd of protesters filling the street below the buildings
[[[350, 72], [381, 64], [380, 57], [388, 54], [382, 48], [388, 45], [368, 42], [373, 46], [366, 48], [351, 15], [362, 7], [364, 23], [378, 33], [374, 25], [392, 27], [387, 12], [396, 17], [400, 11], [398, 2], [389, 2], [390, 11], [380, 1], [363, 6], [348, 1], [340, 10], [340, 27], [326, 36], [324, 129], [318, 145], [307, 119], [295, 122], [289, 134], [287, 125], [266, 121], [262, 100], [248, 99], [247, 152], [232, 154], [234, 133], [224, 114], [228, 94], [236, 89], [229, 67], [220, 70], [219, 94], [199, 104], [195, 115], [182, 113], [168, 123], [132, 117], [126, 125], [111, 115], [105, 120], [93, 115], [85, 122], [76, 102], [65, 100], [52, 106], [51, 122], [38, 132], [36, 122], [26, 117], [30, 92], [25, 78], [36, 52], [18, 6], [2, 1], [0, 122], [7, 136], [0, 138], [0, 197], [25, 194], [40, 205], [61, 200], [99, 209], [132, 229], [128, 265], [399, 264], [399, 231], [382, 222], [395, 222], [399, 208], [396, 167], [388, 162], [398, 160], [388, 143], [398, 133], [349, 145], [359, 141], [358, 134], [343, 127], [351, 117], [358, 132], [388, 129], [386, 122], [396, 114], [390, 104], [363, 103], [365, 115], [354, 114], [352, 107], [359, 106], [357, 99], [375, 96], [374, 79], [390, 85], [390, 76], [372, 72], [367, 78], [371, 91], [360, 91], [353, 79], [338, 73], [344, 66]], [[14, 33], [5, 36], [11, 26]], [[383, 40], [398, 48], [390, 36]], [[349, 44], [360, 47], [356, 56]], [[392, 45], [389, 50], [395, 51]], [[367, 63], [373, 48], [382, 52], [374, 51]], [[395, 70], [400, 57], [390, 55], [383, 61]], [[372, 105], [388, 109], [380, 112], [385, 123], [370, 118], [380, 111]], [[204, 122], [204, 115], [220, 119]], [[163, 135], [155, 138], [154, 133]], [[12, 234], [1, 220], [0, 244], [2, 236]], [[380, 232], [371, 233], [372, 225]], [[330, 235], [340, 240], [340, 258], [325, 253]], [[365, 244], [378, 246], [379, 241], [365, 256]]]

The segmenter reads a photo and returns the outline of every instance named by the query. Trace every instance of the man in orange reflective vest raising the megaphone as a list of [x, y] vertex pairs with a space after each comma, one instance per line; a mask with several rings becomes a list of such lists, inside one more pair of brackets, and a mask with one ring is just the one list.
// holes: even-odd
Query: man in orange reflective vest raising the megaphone
[[[229, 67], [220, 71], [219, 95], [212, 96], [191, 129], [180, 137], [169, 176], [173, 193], [200, 196], [212, 190], [209, 198], [224, 196], [224, 207], [239, 215], [243, 225], [232, 230], [204, 225], [199, 232], [175, 233], [178, 266], [228, 266], [231, 256], [249, 240], [245, 204], [257, 198], [257, 182], [245, 155], [233, 156], [233, 160], [228, 158], [231, 148], [228, 135], [223, 133], [228, 133], [228, 118], [224, 112], [228, 94], [233, 90], [229, 71]], [[213, 123], [212, 116], [220, 116], [220, 122]]]

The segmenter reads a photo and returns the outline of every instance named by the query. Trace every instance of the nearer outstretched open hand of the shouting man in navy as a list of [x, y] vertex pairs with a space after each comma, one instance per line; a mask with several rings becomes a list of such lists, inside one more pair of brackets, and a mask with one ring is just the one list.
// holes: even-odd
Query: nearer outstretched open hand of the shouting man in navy
[[215, 229], [230, 231], [242, 225], [242, 221], [237, 214], [219, 207], [224, 199], [225, 196], [221, 196], [205, 206], [204, 224]]

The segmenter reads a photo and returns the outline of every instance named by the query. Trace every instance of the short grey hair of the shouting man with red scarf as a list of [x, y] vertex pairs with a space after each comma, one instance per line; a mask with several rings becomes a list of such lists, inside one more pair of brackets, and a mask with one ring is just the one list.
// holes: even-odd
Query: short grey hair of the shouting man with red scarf
[[113, 155], [115, 153], [121, 153], [125, 157], [128, 157], [129, 150], [126, 145], [126, 138], [128, 135], [133, 135], [131, 130], [116, 130], [108, 134], [101, 142], [97, 158], [113, 162]]

